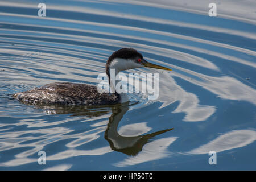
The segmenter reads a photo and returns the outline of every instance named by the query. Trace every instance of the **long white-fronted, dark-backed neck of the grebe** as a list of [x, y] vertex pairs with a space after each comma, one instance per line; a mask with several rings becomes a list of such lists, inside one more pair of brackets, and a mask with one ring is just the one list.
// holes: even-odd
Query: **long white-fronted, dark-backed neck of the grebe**
[[110, 85], [110, 89], [111, 89], [111, 93], [117, 94], [120, 98], [121, 98], [121, 103], [123, 102], [128, 102], [129, 98], [127, 96], [126, 93], [118, 93], [117, 90], [115, 89], [116, 85], [118, 82], [120, 82], [121, 80], [119, 79], [119, 70], [118, 69], [113, 69], [113, 68], [109, 68], [108, 71], [106, 72], [108, 77], [109, 77], [109, 85]]

